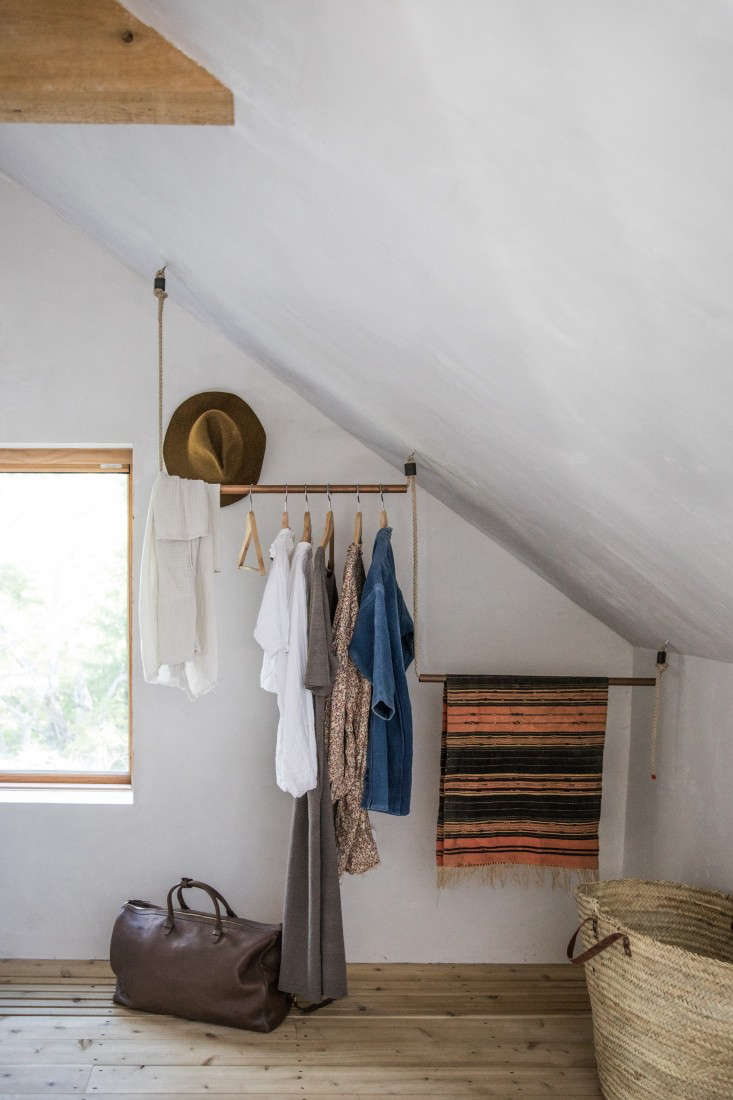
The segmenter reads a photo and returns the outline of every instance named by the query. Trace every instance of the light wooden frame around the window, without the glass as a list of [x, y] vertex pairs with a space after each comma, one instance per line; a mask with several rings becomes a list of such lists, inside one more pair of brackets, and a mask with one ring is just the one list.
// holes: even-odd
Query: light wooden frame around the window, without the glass
[[0, 783], [43, 787], [51, 783], [132, 784], [132, 449], [0, 448], [0, 473], [127, 474], [128, 475], [128, 771], [0, 771]]

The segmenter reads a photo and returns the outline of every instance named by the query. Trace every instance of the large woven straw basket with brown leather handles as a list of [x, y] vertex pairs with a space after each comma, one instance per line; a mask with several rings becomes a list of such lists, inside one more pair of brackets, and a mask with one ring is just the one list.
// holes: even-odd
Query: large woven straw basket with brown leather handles
[[576, 897], [606, 1100], [731, 1100], [733, 898], [634, 879]]

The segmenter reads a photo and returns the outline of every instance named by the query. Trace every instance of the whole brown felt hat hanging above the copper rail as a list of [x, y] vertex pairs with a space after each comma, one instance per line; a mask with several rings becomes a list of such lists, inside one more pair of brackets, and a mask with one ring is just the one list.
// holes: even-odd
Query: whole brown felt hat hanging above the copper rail
[[[171, 417], [163, 442], [165, 469], [179, 477], [253, 485], [260, 477], [265, 431], [237, 394], [195, 394]], [[233, 504], [240, 496], [223, 496]]]

